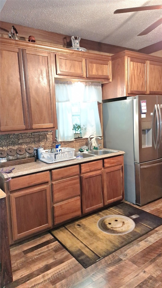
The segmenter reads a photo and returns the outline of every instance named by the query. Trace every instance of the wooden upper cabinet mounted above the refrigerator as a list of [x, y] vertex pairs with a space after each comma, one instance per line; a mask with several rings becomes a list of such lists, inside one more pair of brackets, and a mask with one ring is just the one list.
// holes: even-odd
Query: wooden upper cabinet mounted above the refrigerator
[[133, 51], [112, 56], [112, 82], [102, 85], [102, 98], [162, 94], [162, 58]]

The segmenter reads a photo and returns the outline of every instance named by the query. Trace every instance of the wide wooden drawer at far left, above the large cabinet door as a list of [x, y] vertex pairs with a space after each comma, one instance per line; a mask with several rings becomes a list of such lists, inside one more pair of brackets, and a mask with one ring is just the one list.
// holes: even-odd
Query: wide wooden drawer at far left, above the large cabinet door
[[12, 191], [20, 188], [29, 187], [35, 184], [46, 183], [49, 180], [49, 171], [14, 178], [9, 181], [9, 190]]

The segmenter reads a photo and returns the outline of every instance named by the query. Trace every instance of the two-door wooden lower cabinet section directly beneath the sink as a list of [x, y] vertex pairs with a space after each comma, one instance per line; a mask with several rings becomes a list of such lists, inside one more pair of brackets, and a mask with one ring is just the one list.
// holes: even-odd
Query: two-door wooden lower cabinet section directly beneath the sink
[[124, 199], [123, 156], [81, 164], [83, 214]]

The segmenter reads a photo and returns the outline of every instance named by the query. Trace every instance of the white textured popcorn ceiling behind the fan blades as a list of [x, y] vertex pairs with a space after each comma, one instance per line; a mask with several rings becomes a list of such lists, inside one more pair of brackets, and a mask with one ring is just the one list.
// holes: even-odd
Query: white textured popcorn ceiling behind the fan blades
[[137, 36], [162, 17], [162, 9], [113, 14], [116, 9], [161, 5], [162, 0], [0, 0], [0, 3], [0, 20], [15, 26], [136, 50], [162, 40], [162, 25], [148, 35]]

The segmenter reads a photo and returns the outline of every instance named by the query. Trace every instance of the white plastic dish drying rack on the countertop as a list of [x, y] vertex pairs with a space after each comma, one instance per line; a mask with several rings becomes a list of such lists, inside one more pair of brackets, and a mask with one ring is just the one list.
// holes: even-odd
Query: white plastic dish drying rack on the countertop
[[60, 149], [61, 149], [60, 152], [53, 152], [53, 153], [48, 153], [48, 150], [41, 151], [44, 157], [40, 158], [39, 160], [46, 163], [56, 163], [76, 159], [76, 157], [74, 156], [75, 153], [74, 148], [62, 147]]

